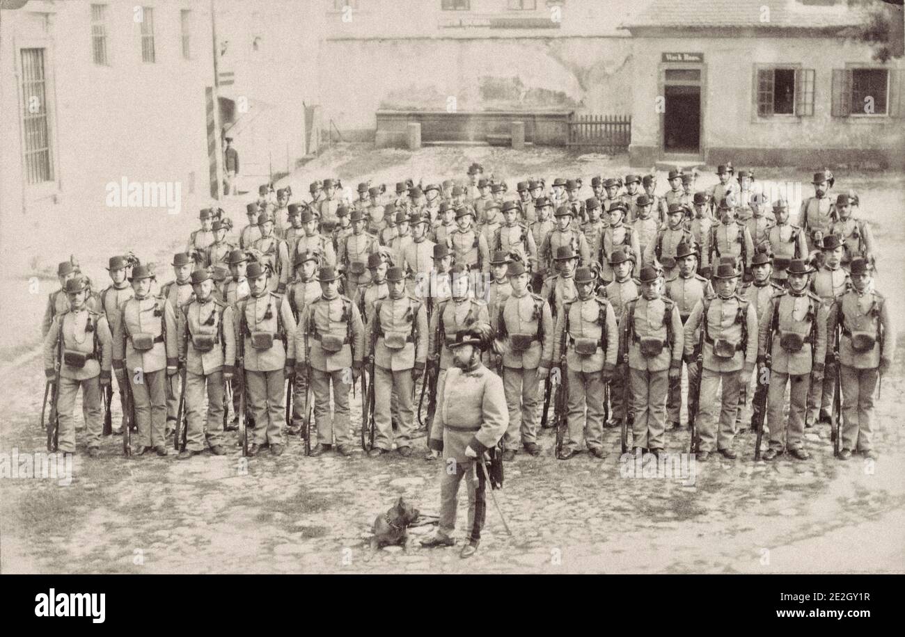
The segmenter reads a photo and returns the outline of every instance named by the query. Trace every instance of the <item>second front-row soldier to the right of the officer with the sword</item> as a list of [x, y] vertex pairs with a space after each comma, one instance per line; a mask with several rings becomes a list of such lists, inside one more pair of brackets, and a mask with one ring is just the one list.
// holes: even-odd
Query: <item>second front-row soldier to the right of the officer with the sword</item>
[[577, 268], [578, 297], [557, 312], [551, 361], [560, 361], [565, 336], [566, 369], [559, 371], [567, 375], [568, 382], [568, 436], [559, 460], [579, 453], [583, 434], [590, 454], [595, 458], [606, 456], [602, 398], [606, 384], [613, 378], [619, 338], [613, 307], [595, 295], [596, 280], [591, 268]]

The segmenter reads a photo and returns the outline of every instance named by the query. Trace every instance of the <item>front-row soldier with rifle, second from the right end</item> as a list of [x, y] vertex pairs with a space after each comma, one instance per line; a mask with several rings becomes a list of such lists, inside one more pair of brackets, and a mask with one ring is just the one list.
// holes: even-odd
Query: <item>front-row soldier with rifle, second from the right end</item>
[[[802, 259], [788, 267], [788, 289], [774, 295], [762, 314], [757, 346], [757, 374], [767, 373], [767, 424], [769, 449], [764, 460], [773, 460], [786, 449], [799, 460], [807, 460], [805, 407], [811, 382], [819, 386], [826, 356], [827, 306], [807, 291], [813, 270]], [[767, 342], [771, 342], [767, 362]], [[789, 385], [789, 421], [783, 417]], [[785, 436], [784, 436], [785, 434]], [[785, 441], [784, 441], [785, 437]]]

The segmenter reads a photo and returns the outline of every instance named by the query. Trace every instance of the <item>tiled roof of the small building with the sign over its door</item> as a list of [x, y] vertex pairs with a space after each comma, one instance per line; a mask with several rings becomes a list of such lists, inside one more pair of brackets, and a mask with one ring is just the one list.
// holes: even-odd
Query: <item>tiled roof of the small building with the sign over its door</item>
[[868, 15], [846, 0], [653, 0], [621, 28], [832, 30], [858, 26]]

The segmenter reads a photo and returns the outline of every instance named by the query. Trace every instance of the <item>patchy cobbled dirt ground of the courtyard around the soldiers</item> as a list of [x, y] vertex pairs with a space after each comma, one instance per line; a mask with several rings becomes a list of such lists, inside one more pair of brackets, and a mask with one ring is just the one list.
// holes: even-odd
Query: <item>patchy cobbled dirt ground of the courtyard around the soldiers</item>
[[[372, 178], [392, 188], [405, 177], [427, 183], [461, 175], [472, 161], [496, 169], [510, 185], [535, 174], [629, 172], [624, 158], [580, 158], [549, 149], [517, 154], [427, 148], [412, 154], [355, 145], [332, 149], [284, 182], [303, 192], [311, 178], [338, 174], [345, 185]], [[762, 179], [795, 178], [805, 185], [809, 173], [809, 167], [757, 169]], [[699, 185], [715, 179], [702, 175]], [[837, 189], [844, 183], [861, 194], [862, 216], [872, 222], [881, 245], [877, 286], [891, 297], [901, 326], [905, 176], [837, 172], [837, 179]], [[662, 189], [665, 175], [661, 181]], [[246, 199], [224, 206], [240, 227]], [[47, 255], [36, 260], [26, 248], [21, 258], [5, 255], [0, 454], [6, 462], [13, 450], [43, 449], [37, 325], [52, 289], [52, 264], [76, 251], [83, 267], [102, 281], [107, 256], [126, 246], [146, 260], [167, 263], [195, 223], [194, 215], [184, 214], [138, 228], [108, 227], [77, 248], [72, 238], [81, 240], [80, 235], [39, 229], [47, 232], [41, 239], [52, 248]], [[40, 282], [40, 294], [28, 289], [32, 276]], [[897, 352], [882, 381], [876, 463], [834, 460], [829, 428], [818, 426], [806, 433], [813, 454], [807, 462], [784, 456], [754, 463], [753, 435], [745, 434], [737, 438], [736, 461], [691, 464], [681, 477], [631, 477], [618, 458], [618, 430], [606, 432], [605, 446], [612, 452], [603, 461], [581, 454], [558, 462], [552, 434], [545, 433], [543, 453], [519, 454], [506, 466], [505, 488], [496, 492], [512, 535], [489, 502], [481, 550], [469, 560], [452, 548], [372, 552], [367, 547], [375, 516], [398, 496], [422, 511], [438, 511], [440, 467], [422, 459], [423, 436], [414, 443], [418, 453], [407, 459], [395, 454], [306, 458], [300, 442], [293, 441], [280, 458], [264, 454], [247, 462], [237, 447], [225, 456], [204, 454], [187, 462], [175, 455], [126, 460], [119, 437], [105, 439], [103, 455], [91, 460], [80, 440], [71, 484], [0, 480], [0, 572], [900, 573], [905, 571], [905, 441], [898, 413], [903, 361]], [[115, 410], [118, 403], [115, 398]], [[358, 400], [352, 421], [360, 422]], [[678, 454], [687, 445], [687, 432], [667, 435], [668, 452]], [[460, 500], [462, 538], [464, 492]], [[413, 535], [427, 530], [415, 529]]]

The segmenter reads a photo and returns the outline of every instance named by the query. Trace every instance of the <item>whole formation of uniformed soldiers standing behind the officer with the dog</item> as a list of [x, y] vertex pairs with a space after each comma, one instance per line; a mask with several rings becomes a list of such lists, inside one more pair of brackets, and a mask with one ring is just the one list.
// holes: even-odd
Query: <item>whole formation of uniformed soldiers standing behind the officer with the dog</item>
[[[626, 420], [633, 448], [659, 454], [667, 420], [680, 428], [683, 364], [690, 385], [700, 380], [700, 408], [689, 406], [700, 412], [693, 448], [701, 460], [713, 451], [734, 457], [732, 440], [748, 421], [758, 361], [773, 375], [771, 450], [806, 457], [801, 431], [829, 416], [834, 374], [842, 373], [854, 379], [843, 390], [856, 390], [844, 401], [843, 452], [873, 454], [872, 390], [891, 360], [894, 331], [872, 288], [876, 251], [869, 226], [853, 220], [850, 194], [827, 205], [832, 175], [825, 171], [814, 175], [814, 198], [803, 202], [804, 223], [795, 226], [782, 201], [770, 218], [757, 198], [739, 199], [726, 180], [730, 168], [720, 166], [713, 192], [692, 195], [693, 210], [681, 201], [665, 209], [659, 203], [678, 192], [675, 185], [688, 194], [682, 186], [690, 180], [679, 171], [670, 173], [672, 190], [662, 199], [647, 192], [651, 180], [627, 175], [624, 182], [592, 181], [602, 200], [578, 201], [580, 183], [557, 179], [549, 194], [529, 181], [519, 183], [519, 201], [500, 201], [494, 195], [505, 188], [482, 181], [480, 166], [472, 165], [468, 185], [422, 191], [402, 183], [409, 202], [386, 204], [375, 203], [383, 189], [375, 196], [369, 187], [372, 201], [350, 211], [334, 199], [338, 184], [325, 180], [322, 199], [312, 189], [312, 201], [300, 204], [288, 204], [287, 193], [278, 192], [271, 206], [264, 189], [249, 206], [250, 223], [237, 246], [227, 238], [232, 229], [222, 211], [202, 211], [202, 228], [173, 260], [175, 280], [159, 289], [153, 268], [114, 257], [111, 285], [96, 296], [76, 267], [61, 264], [64, 294], [51, 295], [44, 341], [48, 379], [61, 370], [54, 388], [60, 448], [74, 451], [71, 410], [81, 386], [89, 452], [99, 453], [95, 398], [111, 393], [112, 369], [120, 399], [132, 396], [135, 454], [167, 453], [180, 387], [188, 421], [180, 457], [205, 446], [224, 453], [224, 412], [243, 416], [237, 374], [253, 423], [248, 454], [265, 446], [282, 453], [287, 379], [294, 403], [289, 433], [306, 422], [313, 393], [318, 444], [311, 454], [334, 445], [339, 454], [352, 454], [349, 393], [367, 362], [376, 429], [369, 454], [395, 445], [410, 455], [418, 381], [430, 389], [429, 399], [442, 399], [449, 345], [462, 329], [490, 323], [496, 339], [484, 357], [503, 380], [505, 459], [521, 449], [541, 451], [541, 381], [567, 388], [560, 407], [567, 436], [558, 457], [585, 447], [603, 457], [603, 429]], [[740, 193], [753, 175], [739, 177]], [[639, 184], [645, 192], [637, 192]], [[475, 192], [472, 201], [462, 200]], [[423, 196], [427, 201], [419, 203]], [[719, 220], [710, 217], [714, 197]], [[288, 224], [281, 223], [281, 204]], [[386, 226], [372, 233], [378, 206]], [[642, 237], [638, 222], [654, 210], [662, 224], [653, 221], [654, 230]], [[739, 219], [748, 210], [754, 232]], [[604, 211], [606, 221], [598, 216]], [[536, 236], [544, 223], [548, 230]], [[856, 232], [846, 234], [850, 227]], [[838, 350], [827, 347], [836, 324], [843, 325]], [[695, 379], [691, 363], [699, 357]], [[787, 427], [782, 374], [793, 388]], [[225, 398], [231, 389], [232, 400]], [[364, 394], [364, 383], [361, 389]]]

